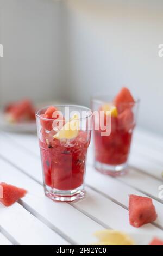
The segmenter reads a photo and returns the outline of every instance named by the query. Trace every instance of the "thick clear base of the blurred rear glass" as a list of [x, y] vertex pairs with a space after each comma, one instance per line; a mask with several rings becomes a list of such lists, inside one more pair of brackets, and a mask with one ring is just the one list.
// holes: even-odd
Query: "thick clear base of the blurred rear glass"
[[113, 177], [122, 176], [128, 173], [128, 164], [123, 163], [116, 166], [95, 161], [95, 168], [99, 172]]

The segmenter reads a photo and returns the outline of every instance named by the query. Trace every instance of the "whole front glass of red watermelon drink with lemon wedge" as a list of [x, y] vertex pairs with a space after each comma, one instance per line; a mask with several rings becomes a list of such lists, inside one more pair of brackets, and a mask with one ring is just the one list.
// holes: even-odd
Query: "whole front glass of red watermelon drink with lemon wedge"
[[[65, 107], [70, 112], [68, 117]], [[90, 109], [50, 106], [38, 111], [36, 119], [46, 196], [58, 201], [83, 198], [91, 137]]]

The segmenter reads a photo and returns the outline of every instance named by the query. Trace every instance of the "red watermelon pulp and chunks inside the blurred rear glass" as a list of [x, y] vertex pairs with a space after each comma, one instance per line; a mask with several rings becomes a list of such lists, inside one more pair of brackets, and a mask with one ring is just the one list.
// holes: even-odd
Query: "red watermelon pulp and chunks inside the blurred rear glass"
[[127, 162], [134, 128], [133, 112], [130, 109], [118, 117], [111, 117], [111, 134], [101, 136], [100, 129], [94, 131], [95, 159], [98, 162], [119, 165]]

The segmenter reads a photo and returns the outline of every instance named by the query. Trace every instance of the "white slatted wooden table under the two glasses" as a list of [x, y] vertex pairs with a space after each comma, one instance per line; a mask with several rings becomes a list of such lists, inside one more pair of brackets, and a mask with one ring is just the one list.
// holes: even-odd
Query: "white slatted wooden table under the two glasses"
[[[92, 145], [86, 170], [86, 198], [55, 203], [44, 196], [39, 146], [35, 135], [0, 134], [0, 180], [26, 188], [10, 208], [0, 205], [0, 245], [88, 245], [104, 228], [163, 236], [163, 137], [136, 130], [130, 172], [111, 178], [93, 168]], [[158, 220], [136, 229], [128, 220], [128, 195], [153, 198]]]

